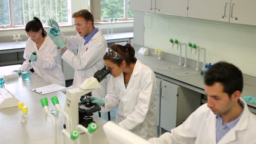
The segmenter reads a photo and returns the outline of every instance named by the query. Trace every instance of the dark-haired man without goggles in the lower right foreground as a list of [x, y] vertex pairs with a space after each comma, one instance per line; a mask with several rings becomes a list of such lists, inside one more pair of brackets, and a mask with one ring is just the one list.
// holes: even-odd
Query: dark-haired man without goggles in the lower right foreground
[[240, 98], [243, 75], [233, 64], [220, 61], [204, 78], [207, 104], [193, 112], [171, 133], [149, 139], [152, 144], [256, 144], [256, 115]]

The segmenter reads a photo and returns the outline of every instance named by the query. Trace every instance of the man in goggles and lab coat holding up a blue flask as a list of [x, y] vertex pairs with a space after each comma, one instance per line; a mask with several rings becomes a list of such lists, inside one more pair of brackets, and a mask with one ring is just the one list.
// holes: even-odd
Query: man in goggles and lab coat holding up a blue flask
[[[107, 48], [107, 41], [101, 29], [94, 27], [93, 15], [88, 10], [73, 13], [74, 27], [78, 34], [75, 36], [60, 35], [54, 37], [48, 32], [53, 42], [61, 48], [61, 58], [75, 69], [72, 88], [79, 87], [86, 78], [92, 77], [97, 70], [104, 67], [103, 55]], [[57, 27], [56, 21], [52, 20]], [[52, 26], [51, 20], [48, 25]], [[77, 56], [68, 48], [78, 48]], [[107, 80], [101, 81], [101, 88], [93, 91], [93, 96], [104, 98], [107, 93]]]

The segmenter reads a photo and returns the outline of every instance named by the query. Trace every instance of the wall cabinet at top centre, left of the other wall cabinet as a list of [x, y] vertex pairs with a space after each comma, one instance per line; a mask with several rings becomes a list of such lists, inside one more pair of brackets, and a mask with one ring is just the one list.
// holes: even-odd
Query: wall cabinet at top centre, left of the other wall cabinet
[[187, 17], [188, 0], [130, 0], [133, 11]]

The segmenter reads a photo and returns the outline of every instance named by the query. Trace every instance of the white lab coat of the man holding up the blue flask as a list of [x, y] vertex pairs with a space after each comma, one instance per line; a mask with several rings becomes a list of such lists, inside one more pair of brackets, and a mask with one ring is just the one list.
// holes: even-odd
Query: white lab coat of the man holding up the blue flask
[[[67, 48], [78, 48], [77, 56], [72, 51], [67, 50], [61, 58], [75, 69], [75, 76], [72, 88], [79, 87], [86, 78], [93, 77], [97, 70], [104, 67], [103, 56], [107, 48], [107, 41], [101, 34], [101, 30], [84, 45], [84, 39], [80, 35], [64, 36], [61, 38]], [[107, 80], [101, 81], [101, 88], [96, 88], [92, 95], [96, 98], [104, 98], [107, 94]]]

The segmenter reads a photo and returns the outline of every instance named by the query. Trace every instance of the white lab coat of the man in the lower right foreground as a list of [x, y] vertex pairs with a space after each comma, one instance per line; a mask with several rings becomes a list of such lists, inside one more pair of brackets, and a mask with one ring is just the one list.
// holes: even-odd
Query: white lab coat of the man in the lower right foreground
[[[243, 99], [241, 101], [245, 103]], [[245, 103], [243, 115], [218, 144], [256, 144], [256, 115]], [[216, 144], [216, 115], [207, 104], [200, 106], [182, 125], [164, 133], [160, 138], [149, 139], [152, 144]]]

